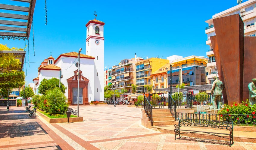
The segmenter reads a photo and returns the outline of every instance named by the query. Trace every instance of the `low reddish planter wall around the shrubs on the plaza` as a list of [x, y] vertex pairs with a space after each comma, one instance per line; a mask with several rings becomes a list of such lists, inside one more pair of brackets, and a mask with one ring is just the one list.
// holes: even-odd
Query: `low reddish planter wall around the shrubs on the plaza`
[[[47, 122], [49, 123], [63, 123], [63, 122], [67, 122], [67, 118], [49, 118], [47, 116], [45, 116], [44, 114], [40, 113], [39, 111], [36, 112], [36, 115], [42, 117], [43, 119], [45, 119]], [[83, 117], [72, 117], [69, 118], [69, 122], [82, 122], [83, 121]]]

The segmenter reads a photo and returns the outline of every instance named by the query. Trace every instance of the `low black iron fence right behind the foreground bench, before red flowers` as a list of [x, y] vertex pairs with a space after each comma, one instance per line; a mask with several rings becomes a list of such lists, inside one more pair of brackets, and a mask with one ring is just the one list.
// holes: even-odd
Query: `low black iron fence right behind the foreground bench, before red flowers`
[[179, 119], [202, 119], [233, 122], [234, 125], [256, 125], [256, 115], [244, 114], [209, 114], [209, 113], [177, 113], [175, 120]]

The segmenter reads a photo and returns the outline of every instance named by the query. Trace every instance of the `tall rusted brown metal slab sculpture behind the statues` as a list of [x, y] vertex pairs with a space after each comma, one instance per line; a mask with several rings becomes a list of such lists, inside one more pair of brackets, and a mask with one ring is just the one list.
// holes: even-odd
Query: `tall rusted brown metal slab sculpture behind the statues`
[[[224, 102], [229, 105], [248, 99], [248, 83], [255, 76], [256, 37], [244, 37], [239, 14], [213, 19], [216, 36], [211, 37]], [[245, 65], [246, 64], [246, 65]]]

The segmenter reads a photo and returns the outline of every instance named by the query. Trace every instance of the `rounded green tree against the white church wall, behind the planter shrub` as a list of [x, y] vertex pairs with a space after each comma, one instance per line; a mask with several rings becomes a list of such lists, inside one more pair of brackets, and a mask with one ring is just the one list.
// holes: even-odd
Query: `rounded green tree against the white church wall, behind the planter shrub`
[[[59, 87], [59, 82], [60, 80], [57, 78], [43, 79], [38, 87], [38, 92], [45, 95], [47, 90], [53, 90], [54, 88]], [[65, 94], [66, 89], [67, 87], [61, 83], [61, 92], [63, 94]]]

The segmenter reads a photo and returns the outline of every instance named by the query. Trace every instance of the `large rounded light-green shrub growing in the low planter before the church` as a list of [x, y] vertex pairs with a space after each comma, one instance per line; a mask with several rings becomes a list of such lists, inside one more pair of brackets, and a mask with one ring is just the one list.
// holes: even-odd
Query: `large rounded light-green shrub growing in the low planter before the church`
[[46, 101], [44, 103], [48, 106], [48, 109], [45, 111], [46, 113], [50, 113], [51, 115], [66, 113], [68, 107], [66, 103], [67, 98], [59, 88], [47, 90], [45, 99]]

